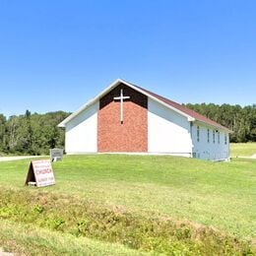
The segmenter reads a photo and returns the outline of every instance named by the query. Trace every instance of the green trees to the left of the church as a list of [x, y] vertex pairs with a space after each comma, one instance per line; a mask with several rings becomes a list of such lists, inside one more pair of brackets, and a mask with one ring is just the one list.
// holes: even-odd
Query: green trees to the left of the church
[[0, 114], [0, 153], [45, 155], [49, 149], [64, 147], [64, 131], [57, 128], [69, 113], [31, 113], [11, 116]]

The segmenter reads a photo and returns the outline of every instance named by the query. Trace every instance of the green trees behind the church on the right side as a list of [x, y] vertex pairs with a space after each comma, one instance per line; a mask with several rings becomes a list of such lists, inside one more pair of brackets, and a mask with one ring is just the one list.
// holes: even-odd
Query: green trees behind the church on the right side
[[256, 104], [241, 107], [229, 104], [186, 104], [232, 130], [231, 142], [256, 142]]

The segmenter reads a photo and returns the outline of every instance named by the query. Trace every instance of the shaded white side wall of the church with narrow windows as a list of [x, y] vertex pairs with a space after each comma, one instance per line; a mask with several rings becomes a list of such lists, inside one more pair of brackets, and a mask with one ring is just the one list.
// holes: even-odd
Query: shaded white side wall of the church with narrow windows
[[[197, 141], [197, 126], [199, 126], [199, 142]], [[208, 129], [210, 130], [210, 142], [208, 142]], [[228, 160], [229, 158], [229, 138], [228, 133], [220, 131], [220, 144], [218, 141], [218, 132], [215, 133], [215, 143], [213, 140], [213, 131], [218, 128], [208, 127], [201, 123], [194, 122], [192, 127], [192, 142], [194, 157], [202, 160]], [[226, 134], [226, 145], [224, 144], [224, 135]]]

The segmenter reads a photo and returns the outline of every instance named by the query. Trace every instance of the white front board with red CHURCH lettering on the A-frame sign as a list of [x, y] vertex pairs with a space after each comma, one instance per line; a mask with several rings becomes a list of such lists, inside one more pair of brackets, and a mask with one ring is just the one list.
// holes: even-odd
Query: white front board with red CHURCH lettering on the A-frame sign
[[37, 187], [55, 184], [50, 160], [32, 160], [32, 168]]

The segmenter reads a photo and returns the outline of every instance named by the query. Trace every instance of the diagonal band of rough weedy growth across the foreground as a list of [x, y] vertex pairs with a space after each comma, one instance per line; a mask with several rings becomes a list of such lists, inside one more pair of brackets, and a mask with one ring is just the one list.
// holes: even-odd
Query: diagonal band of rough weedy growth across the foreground
[[[250, 242], [205, 225], [174, 222], [166, 217], [147, 218], [118, 208], [102, 208], [74, 197], [58, 198], [51, 193], [41, 192], [34, 197], [34, 193], [0, 190], [1, 197], [8, 195], [7, 205], [0, 202], [2, 213], [8, 213], [4, 218], [168, 255], [248, 255], [254, 250]], [[42, 208], [38, 203], [45, 198], [47, 202], [41, 215]], [[40, 215], [34, 215], [32, 209], [39, 210]], [[78, 217], [82, 221], [77, 222]]]

